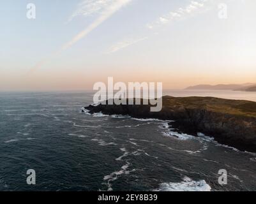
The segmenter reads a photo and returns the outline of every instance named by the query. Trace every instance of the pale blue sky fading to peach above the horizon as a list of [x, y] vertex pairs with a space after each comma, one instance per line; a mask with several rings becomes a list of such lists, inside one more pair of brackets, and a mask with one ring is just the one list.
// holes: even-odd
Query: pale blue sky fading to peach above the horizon
[[2, 0], [0, 91], [91, 90], [107, 77], [164, 89], [256, 82], [255, 8], [255, 0]]

